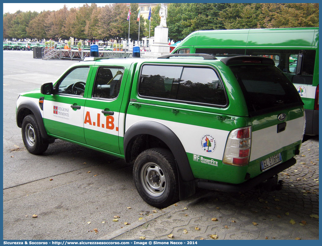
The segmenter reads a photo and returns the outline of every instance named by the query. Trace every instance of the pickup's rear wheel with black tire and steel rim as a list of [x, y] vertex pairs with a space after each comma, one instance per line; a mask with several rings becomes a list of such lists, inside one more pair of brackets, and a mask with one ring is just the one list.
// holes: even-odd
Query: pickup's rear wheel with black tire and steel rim
[[148, 204], [164, 208], [179, 201], [179, 178], [173, 154], [152, 148], [137, 156], [133, 167], [137, 192]]

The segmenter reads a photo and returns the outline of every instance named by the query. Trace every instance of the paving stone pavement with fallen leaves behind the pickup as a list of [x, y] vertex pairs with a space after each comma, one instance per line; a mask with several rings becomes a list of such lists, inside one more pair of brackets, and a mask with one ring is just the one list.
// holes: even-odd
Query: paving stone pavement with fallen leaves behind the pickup
[[284, 182], [280, 191], [199, 189], [165, 209], [138, 215], [143, 219], [100, 239], [214, 240], [210, 235], [216, 235], [217, 240], [318, 240], [318, 158], [316, 136], [302, 144], [297, 163], [279, 174]]

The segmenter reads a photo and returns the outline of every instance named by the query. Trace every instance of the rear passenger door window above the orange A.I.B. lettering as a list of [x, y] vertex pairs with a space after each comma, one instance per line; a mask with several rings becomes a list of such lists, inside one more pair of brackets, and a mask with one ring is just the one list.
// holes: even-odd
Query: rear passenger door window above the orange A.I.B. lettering
[[117, 98], [123, 72], [123, 68], [100, 67], [96, 74], [92, 97]]

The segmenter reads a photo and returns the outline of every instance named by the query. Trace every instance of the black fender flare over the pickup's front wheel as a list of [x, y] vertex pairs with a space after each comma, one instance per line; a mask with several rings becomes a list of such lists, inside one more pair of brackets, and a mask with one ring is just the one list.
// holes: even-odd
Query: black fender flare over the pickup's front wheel
[[33, 112], [33, 115], [37, 119], [43, 139], [46, 140], [47, 142], [48, 141], [52, 142], [54, 140], [54, 138], [47, 135], [47, 131], [46, 131], [45, 126], [43, 124], [43, 117], [41, 115], [41, 112], [40, 112], [39, 108], [37, 107], [37, 105], [32, 101], [25, 100], [25, 101], [21, 102], [21, 104], [18, 106], [17, 112], [16, 112], [17, 126], [20, 128], [22, 126], [22, 120], [20, 120], [20, 119], [22, 118], [21, 114], [22, 114], [23, 109], [29, 109], [31, 112]]

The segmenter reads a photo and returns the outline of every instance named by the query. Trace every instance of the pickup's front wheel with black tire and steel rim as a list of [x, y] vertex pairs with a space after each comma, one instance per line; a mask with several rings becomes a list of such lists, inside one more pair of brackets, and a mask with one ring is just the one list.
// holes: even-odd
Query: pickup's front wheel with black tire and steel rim
[[21, 133], [24, 146], [31, 154], [39, 155], [47, 150], [48, 143], [43, 141], [37, 119], [33, 114], [27, 115], [22, 121]]

